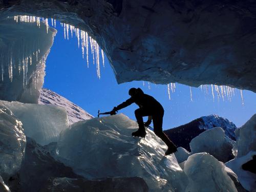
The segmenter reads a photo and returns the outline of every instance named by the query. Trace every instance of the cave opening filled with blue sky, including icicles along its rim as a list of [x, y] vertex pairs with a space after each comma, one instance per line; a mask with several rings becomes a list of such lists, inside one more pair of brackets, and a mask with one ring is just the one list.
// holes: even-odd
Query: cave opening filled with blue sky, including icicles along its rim
[[[22, 25], [26, 19], [23, 18], [21, 22], [20, 18], [14, 17], [14, 20], [17, 25]], [[146, 81], [117, 84], [113, 69], [106, 56], [101, 55], [99, 48], [100, 55], [97, 56], [96, 41], [91, 40], [84, 32], [76, 31], [73, 26], [60, 23], [58, 20], [41, 20], [41, 25], [45, 24], [58, 31], [46, 60], [43, 88], [66, 97], [93, 116], [97, 116], [98, 110], [110, 111], [113, 106], [129, 98], [127, 91], [131, 87], [140, 87], [145, 93], [153, 95], [163, 103], [164, 130], [211, 114], [224, 116], [238, 124], [237, 126], [241, 126], [245, 122], [244, 119], [248, 119], [254, 113], [255, 95], [250, 91], [244, 91], [242, 95], [240, 90], [225, 86], [204, 85], [193, 88], [177, 83], [166, 86]], [[48, 33], [49, 27], [46, 27], [45, 33]], [[82, 41], [86, 38], [88, 42]], [[106, 100], [108, 102], [105, 102]], [[132, 105], [121, 112], [135, 119], [135, 109], [136, 106]]]

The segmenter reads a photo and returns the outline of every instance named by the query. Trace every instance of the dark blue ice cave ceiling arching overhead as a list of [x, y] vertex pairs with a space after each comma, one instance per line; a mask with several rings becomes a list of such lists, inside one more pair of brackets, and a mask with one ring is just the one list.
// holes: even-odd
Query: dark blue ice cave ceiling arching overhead
[[119, 83], [218, 84], [256, 92], [254, 0], [0, 0], [0, 20], [14, 15], [55, 18], [87, 31]]

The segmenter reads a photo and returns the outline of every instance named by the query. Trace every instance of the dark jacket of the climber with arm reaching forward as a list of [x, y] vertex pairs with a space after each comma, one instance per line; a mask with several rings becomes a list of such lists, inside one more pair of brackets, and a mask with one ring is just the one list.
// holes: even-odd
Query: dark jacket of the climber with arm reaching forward
[[163, 110], [162, 105], [154, 97], [144, 94], [140, 88], [137, 89], [137, 93], [133, 97], [119, 104], [116, 107], [116, 110], [118, 111], [126, 108], [126, 106], [129, 106], [132, 103], [136, 103], [140, 108], [144, 108], [149, 111], [157, 112], [159, 110]]

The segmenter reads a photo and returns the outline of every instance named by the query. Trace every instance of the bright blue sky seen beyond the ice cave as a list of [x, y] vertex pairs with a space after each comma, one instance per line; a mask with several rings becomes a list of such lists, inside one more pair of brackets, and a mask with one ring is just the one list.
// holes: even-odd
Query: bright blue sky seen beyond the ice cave
[[[81, 48], [78, 48], [76, 37], [64, 38], [63, 29], [57, 22], [58, 33], [46, 61], [46, 77], [44, 88], [50, 89], [81, 108], [97, 116], [97, 111], [110, 111], [114, 106], [128, 99], [128, 91], [132, 87], [140, 87], [146, 94], [154, 96], [164, 107], [163, 130], [190, 122], [201, 116], [217, 114], [223, 116], [237, 126], [243, 125], [256, 113], [256, 94], [243, 91], [244, 105], [239, 90], [235, 91], [231, 102], [225, 98], [215, 101], [212, 95], [204, 94], [199, 88], [191, 88], [193, 101], [190, 100], [188, 86], [177, 84], [175, 93], [168, 99], [167, 86], [155, 85], [143, 81], [133, 81], [117, 84], [114, 72], [105, 57], [105, 68], [101, 65], [101, 78], [98, 79], [96, 65], [93, 65], [92, 55], [89, 55], [89, 68], [86, 59], [82, 58]], [[90, 52], [90, 48], [89, 48]], [[101, 58], [100, 58], [101, 59]], [[131, 119], [135, 119], [134, 110], [138, 106], [132, 104], [120, 110]]]

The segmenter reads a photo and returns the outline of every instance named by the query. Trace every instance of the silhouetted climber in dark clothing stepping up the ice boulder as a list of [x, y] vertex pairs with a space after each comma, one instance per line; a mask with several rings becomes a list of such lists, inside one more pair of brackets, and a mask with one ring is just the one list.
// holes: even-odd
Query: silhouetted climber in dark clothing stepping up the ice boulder
[[[139, 125], [139, 130], [133, 132], [132, 136], [144, 138], [146, 136], [144, 125], [146, 127], [149, 126], [151, 124], [151, 120], [153, 119], [154, 133], [168, 146], [165, 155], [175, 153], [177, 151], [177, 147], [172, 141], [169, 140], [162, 130], [164, 115], [163, 106], [154, 97], [144, 94], [140, 88], [131, 88], [129, 90], [129, 95], [131, 98], [114, 107], [114, 109], [111, 111], [111, 115], [114, 115], [116, 111], [126, 108], [126, 106], [129, 106], [132, 103], [136, 103], [140, 107], [139, 109], [135, 110], [135, 117]], [[148, 120], [144, 124], [143, 117], [145, 116], [148, 116]]]

